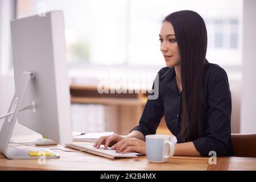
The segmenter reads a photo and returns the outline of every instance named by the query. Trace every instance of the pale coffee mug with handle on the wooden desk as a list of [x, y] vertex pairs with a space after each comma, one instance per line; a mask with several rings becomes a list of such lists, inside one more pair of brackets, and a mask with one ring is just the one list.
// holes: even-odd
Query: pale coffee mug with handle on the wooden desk
[[146, 155], [149, 162], [164, 163], [174, 155], [175, 145], [169, 135], [146, 135]]

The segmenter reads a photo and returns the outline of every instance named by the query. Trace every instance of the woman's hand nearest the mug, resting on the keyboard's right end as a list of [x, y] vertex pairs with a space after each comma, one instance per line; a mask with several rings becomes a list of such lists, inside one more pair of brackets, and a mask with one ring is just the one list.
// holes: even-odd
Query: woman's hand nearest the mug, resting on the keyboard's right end
[[146, 154], [146, 142], [138, 138], [123, 138], [111, 148], [122, 154], [130, 151]]

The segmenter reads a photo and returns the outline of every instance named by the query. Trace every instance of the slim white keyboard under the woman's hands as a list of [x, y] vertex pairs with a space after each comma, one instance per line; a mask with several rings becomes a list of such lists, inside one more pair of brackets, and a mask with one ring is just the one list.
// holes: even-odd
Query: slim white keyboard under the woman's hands
[[137, 158], [138, 153], [135, 152], [126, 152], [125, 154], [119, 154], [115, 152], [112, 148], [108, 147], [104, 149], [104, 145], [101, 145], [100, 148], [93, 147], [92, 144], [68, 144], [68, 147], [76, 148], [77, 150], [89, 152], [91, 154], [104, 156], [106, 158]]

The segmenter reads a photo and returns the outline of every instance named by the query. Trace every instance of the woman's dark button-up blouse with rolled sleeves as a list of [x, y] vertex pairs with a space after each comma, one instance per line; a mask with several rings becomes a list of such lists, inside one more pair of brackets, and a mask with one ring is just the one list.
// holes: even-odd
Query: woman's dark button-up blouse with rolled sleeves
[[[205, 65], [203, 94], [204, 94], [204, 137], [193, 141], [196, 150], [201, 156], [208, 156], [210, 151], [216, 151], [217, 156], [232, 156], [233, 145], [231, 140], [231, 94], [228, 76], [224, 69], [217, 64]], [[175, 80], [175, 68], [162, 68], [159, 72], [159, 96], [156, 100], [147, 100], [138, 130], [143, 135], [155, 134], [160, 119], [166, 120], [168, 129], [179, 137], [182, 113], [182, 92], [179, 94]], [[154, 85], [153, 85], [154, 88]], [[131, 130], [131, 131], [133, 131]]]

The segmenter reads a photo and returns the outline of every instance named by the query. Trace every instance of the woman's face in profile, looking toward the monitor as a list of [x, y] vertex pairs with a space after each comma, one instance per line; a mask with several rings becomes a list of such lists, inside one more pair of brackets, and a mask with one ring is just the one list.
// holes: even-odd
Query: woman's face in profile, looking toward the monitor
[[180, 65], [180, 52], [176, 41], [174, 27], [168, 21], [162, 24], [160, 34], [160, 50], [166, 60], [167, 67]]

